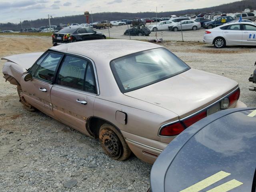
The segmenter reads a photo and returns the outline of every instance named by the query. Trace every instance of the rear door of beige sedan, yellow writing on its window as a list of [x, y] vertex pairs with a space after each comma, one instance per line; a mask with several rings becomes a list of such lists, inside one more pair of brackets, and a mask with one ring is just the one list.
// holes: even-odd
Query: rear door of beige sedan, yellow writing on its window
[[52, 86], [53, 113], [64, 124], [86, 131], [86, 119], [93, 116], [97, 94], [92, 62], [83, 57], [66, 55]]

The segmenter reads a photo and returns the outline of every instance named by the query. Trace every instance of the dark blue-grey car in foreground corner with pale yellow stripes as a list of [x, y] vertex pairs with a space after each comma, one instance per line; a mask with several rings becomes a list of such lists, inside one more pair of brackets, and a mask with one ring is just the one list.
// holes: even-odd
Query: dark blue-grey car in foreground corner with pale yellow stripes
[[256, 108], [222, 110], [177, 136], [156, 159], [152, 192], [255, 192]]

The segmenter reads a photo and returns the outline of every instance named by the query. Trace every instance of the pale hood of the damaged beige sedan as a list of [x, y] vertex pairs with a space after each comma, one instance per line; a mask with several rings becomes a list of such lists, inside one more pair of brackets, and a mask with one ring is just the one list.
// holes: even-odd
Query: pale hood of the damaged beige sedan
[[3, 60], [7, 60], [13, 63], [16, 63], [22, 66], [25, 69], [30, 68], [36, 60], [43, 54], [43, 52], [38, 53], [25, 53], [25, 54], [18, 54], [13, 56], [7, 56], [2, 58]]

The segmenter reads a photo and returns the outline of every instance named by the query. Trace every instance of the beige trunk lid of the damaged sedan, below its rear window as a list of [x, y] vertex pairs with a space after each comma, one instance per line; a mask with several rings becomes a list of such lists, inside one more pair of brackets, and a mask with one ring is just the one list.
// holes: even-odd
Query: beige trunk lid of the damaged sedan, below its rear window
[[124, 94], [168, 109], [183, 118], [212, 104], [237, 86], [237, 82], [229, 78], [190, 69]]

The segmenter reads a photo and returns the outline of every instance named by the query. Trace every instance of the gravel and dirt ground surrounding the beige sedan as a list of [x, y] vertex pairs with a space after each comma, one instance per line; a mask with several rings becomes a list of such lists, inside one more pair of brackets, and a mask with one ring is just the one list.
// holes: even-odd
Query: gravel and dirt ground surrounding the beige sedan
[[[44, 51], [51, 39], [0, 36], [0, 57]], [[240, 100], [256, 106], [248, 90], [256, 48], [215, 49], [198, 42], [164, 42], [192, 68], [220, 74], [240, 84]], [[0, 61], [2, 73], [3, 61]], [[28, 112], [16, 87], [0, 78], [0, 191], [145, 192], [151, 165], [135, 156], [118, 162], [106, 156], [98, 140], [46, 116]], [[71, 188], [72, 187], [72, 188]]]

